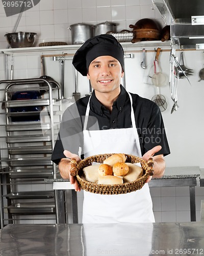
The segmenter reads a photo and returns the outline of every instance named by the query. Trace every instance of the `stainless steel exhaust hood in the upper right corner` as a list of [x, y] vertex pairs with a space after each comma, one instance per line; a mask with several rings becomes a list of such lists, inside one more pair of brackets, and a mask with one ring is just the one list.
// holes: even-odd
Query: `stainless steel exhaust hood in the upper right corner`
[[180, 49], [204, 49], [203, 0], [152, 0], [166, 25], [172, 44]]

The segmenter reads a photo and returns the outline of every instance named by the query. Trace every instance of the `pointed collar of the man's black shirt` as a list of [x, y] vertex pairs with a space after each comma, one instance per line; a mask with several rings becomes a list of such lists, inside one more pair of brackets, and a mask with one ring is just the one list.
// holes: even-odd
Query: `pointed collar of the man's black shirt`
[[[114, 103], [113, 103], [113, 105], [116, 105], [118, 111], [120, 111], [120, 112], [123, 109], [124, 102], [126, 99], [126, 94], [127, 94], [126, 90], [120, 84], [120, 94], [119, 94], [118, 98], [116, 99], [116, 101], [114, 101]], [[103, 112], [106, 109], [105, 106], [103, 104], [101, 104], [100, 101], [96, 98], [94, 90], [92, 92], [92, 96], [90, 99], [90, 109], [94, 113], [97, 113], [98, 115], [101, 115], [101, 116], [103, 115]]]

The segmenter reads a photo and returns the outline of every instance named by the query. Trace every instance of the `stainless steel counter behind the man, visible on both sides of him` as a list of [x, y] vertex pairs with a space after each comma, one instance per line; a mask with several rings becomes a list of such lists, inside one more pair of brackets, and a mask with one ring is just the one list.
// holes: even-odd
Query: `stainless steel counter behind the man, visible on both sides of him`
[[[195, 208], [195, 186], [199, 184], [200, 168], [199, 166], [182, 166], [182, 167], [167, 167], [162, 178], [152, 179], [149, 182], [149, 187], [174, 187], [174, 186], [189, 186], [190, 191], [190, 212], [191, 221], [196, 221]], [[72, 193], [72, 214], [73, 223], [78, 223], [77, 216], [77, 193], [73, 189], [73, 185], [68, 180], [61, 178], [57, 174], [55, 178], [50, 177], [45, 179], [46, 182], [53, 183], [53, 189], [56, 191], [56, 211], [57, 223], [65, 223], [64, 211], [64, 190], [71, 189]]]

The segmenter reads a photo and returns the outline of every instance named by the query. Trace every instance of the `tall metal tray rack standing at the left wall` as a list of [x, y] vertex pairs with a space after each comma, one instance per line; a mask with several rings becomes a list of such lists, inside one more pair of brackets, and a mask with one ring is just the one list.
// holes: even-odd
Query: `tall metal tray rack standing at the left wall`
[[[44, 179], [56, 174], [50, 160], [61, 119], [61, 89], [45, 79], [6, 84], [1, 124], [1, 226], [56, 220], [55, 194]], [[36, 223], [36, 222], [35, 222]]]

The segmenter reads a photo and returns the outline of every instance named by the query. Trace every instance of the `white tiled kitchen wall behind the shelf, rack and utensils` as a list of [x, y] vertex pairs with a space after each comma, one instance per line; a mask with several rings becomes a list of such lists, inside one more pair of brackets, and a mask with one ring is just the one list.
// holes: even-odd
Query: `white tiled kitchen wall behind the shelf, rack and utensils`
[[[141, 18], [156, 18], [163, 21], [157, 10], [152, 10], [151, 0], [41, 0], [34, 8], [22, 13], [17, 31], [32, 31], [38, 33], [36, 46], [45, 41], [65, 41], [71, 44], [71, 32], [67, 29], [71, 24], [97, 24], [106, 20], [118, 23], [117, 31], [129, 29]], [[6, 32], [12, 32], [19, 15], [6, 17], [3, 6], [0, 6], [0, 48], [7, 48]], [[157, 45], [155, 46], [157, 48]], [[199, 166], [204, 167], [203, 160], [203, 107], [204, 81], [199, 81], [198, 72], [203, 67], [201, 51], [185, 51], [186, 66], [192, 68], [193, 76], [180, 79], [177, 87], [179, 108], [171, 114], [173, 101], [171, 100], [169, 79], [169, 51], [162, 51], [160, 67], [166, 75], [166, 83], [159, 92], [166, 97], [167, 109], [162, 112], [166, 133], [171, 149], [167, 156], [167, 166]], [[176, 52], [179, 56], [179, 52]], [[140, 67], [142, 52], [134, 53], [133, 58], [125, 59], [125, 84], [127, 91], [137, 93], [151, 99], [158, 93], [152, 86], [148, 75], [153, 74], [152, 63], [154, 51], [146, 53], [147, 69]], [[0, 79], [6, 79], [5, 57], [0, 56]], [[36, 78], [40, 76], [40, 56], [23, 55], [8, 58], [8, 68], [14, 65], [14, 78]], [[46, 58], [47, 75], [60, 82], [60, 63]], [[65, 97], [71, 97], [74, 91], [74, 75], [71, 60], [65, 61]], [[86, 78], [79, 74], [79, 91], [84, 96], [89, 92]], [[3, 94], [0, 94], [1, 100]], [[3, 111], [0, 109], [0, 111]], [[1, 117], [0, 117], [1, 118]], [[0, 119], [1, 123], [4, 121]], [[0, 130], [4, 134], [3, 129]], [[0, 146], [2, 147], [2, 143]], [[190, 221], [190, 203], [188, 187], [151, 188], [152, 201], [156, 221]], [[69, 195], [68, 195], [69, 196]], [[200, 200], [204, 197], [204, 189], [196, 187], [196, 215], [199, 220]], [[80, 220], [82, 214], [83, 192], [79, 193]]]

